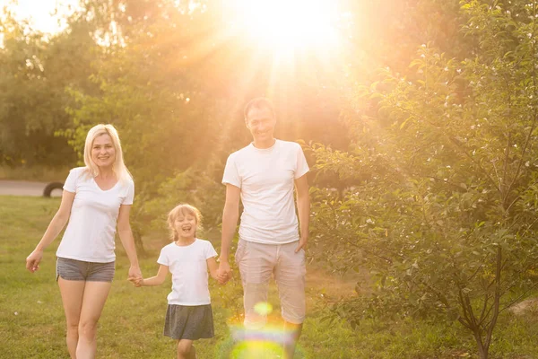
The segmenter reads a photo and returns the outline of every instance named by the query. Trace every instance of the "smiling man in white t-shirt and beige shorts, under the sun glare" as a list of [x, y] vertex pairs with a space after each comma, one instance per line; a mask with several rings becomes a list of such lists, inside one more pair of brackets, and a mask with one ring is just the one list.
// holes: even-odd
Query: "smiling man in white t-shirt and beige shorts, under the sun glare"
[[[273, 137], [273, 104], [265, 98], [247, 103], [245, 124], [253, 142], [231, 153], [222, 183], [226, 202], [222, 214], [219, 274], [230, 275], [230, 244], [239, 217], [236, 263], [244, 291], [245, 327], [262, 328], [271, 276], [278, 285], [284, 332], [284, 357], [292, 358], [305, 319], [305, 247], [308, 241], [308, 164], [299, 144]], [[293, 188], [297, 192], [300, 235]], [[256, 304], [258, 306], [256, 307]]]

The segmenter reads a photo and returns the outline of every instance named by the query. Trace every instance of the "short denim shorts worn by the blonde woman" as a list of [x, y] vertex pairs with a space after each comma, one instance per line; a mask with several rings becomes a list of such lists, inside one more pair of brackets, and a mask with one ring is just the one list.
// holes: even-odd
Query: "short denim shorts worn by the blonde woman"
[[115, 262], [84, 262], [61, 257], [56, 259], [56, 281], [61, 276], [65, 280], [112, 282], [115, 270]]

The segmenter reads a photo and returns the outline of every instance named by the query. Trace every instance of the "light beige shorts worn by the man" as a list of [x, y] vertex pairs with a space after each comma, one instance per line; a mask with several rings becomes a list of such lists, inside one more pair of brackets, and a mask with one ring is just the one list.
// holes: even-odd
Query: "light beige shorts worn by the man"
[[[281, 300], [282, 318], [301, 324], [306, 315], [305, 251], [295, 253], [298, 241], [286, 244], [264, 244], [239, 240], [235, 259], [243, 284], [245, 327], [265, 325], [269, 280], [274, 276]], [[257, 305], [256, 305], [257, 304]]]

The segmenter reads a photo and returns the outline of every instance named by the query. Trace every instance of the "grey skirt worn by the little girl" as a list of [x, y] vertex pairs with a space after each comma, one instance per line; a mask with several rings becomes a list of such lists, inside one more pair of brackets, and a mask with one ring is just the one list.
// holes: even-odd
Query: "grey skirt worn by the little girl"
[[164, 321], [164, 335], [173, 339], [189, 340], [214, 337], [211, 304], [169, 304]]

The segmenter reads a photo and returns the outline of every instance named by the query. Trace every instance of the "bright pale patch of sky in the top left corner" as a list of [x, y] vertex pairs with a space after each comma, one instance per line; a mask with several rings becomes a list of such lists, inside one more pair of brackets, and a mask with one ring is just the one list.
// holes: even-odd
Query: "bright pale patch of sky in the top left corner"
[[57, 23], [57, 16], [52, 16], [56, 6], [59, 14], [69, 13], [68, 5], [75, 6], [79, 0], [0, 0], [0, 9], [10, 6], [17, 19], [30, 18], [35, 30], [55, 33], [62, 30]]

